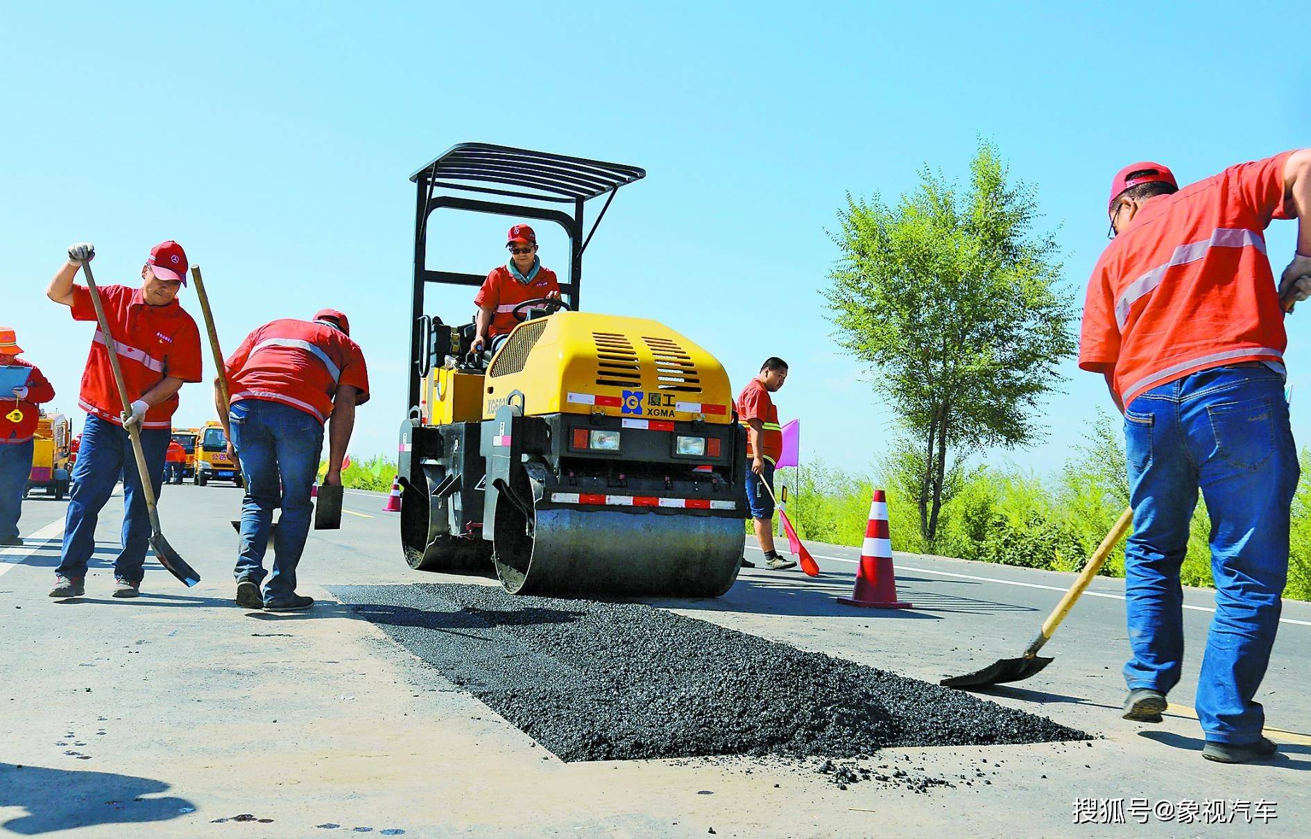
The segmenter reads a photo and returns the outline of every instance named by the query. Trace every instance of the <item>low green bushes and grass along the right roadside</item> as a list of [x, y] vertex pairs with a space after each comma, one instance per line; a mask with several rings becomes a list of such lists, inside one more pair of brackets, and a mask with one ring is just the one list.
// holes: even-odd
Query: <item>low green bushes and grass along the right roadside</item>
[[[888, 492], [893, 548], [965, 560], [1071, 572], [1083, 566], [1116, 519], [1129, 506], [1124, 439], [1117, 423], [1101, 413], [1070, 459], [1050, 475], [1019, 467], [978, 465], [956, 469], [944, 482], [937, 537], [920, 530], [919, 465], [906, 450], [894, 450], [874, 464], [872, 477], [825, 463], [783, 469], [788, 517], [802, 539], [859, 545], [865, 535], [874, 481]], [[1311, 473], [1311, 448], [1301, 454], [1303, 475]], [[1207, 537], [1210, 520], [1198, 501], [1181, 578], [1185, 586], [1210, 587]], [[1302, 481], [1293, 499], [1293, 536], [1287, 598], [1311, 600], [1311, 482]], [[1125, 576], [1121, 541], [1103, 574]]]

